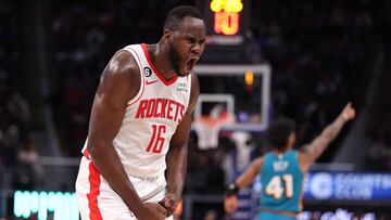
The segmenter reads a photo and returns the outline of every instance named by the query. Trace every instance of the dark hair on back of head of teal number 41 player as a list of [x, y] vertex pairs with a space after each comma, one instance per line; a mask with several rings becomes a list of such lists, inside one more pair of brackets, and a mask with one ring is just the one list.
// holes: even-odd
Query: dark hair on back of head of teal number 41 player
[[276, 119], [267, 129], [268, 143], [278, 150], [283, 150], [288, 143], [289, 135], [294, 132], [295, 124], [289, 118]]

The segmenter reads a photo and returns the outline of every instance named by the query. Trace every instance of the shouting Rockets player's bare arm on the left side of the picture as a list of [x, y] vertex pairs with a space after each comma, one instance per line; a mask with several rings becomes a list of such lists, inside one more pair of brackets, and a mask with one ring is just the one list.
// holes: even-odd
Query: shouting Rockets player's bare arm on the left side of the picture
[[139, 67], [128, 52], [119, 52], [110, 61], [93, 100], [87, 148], [100, 173], [138, 219], [163, 219], [163, 207], [142, 203], [113, 146], [127, 102], [140, 88], [138, 72]]

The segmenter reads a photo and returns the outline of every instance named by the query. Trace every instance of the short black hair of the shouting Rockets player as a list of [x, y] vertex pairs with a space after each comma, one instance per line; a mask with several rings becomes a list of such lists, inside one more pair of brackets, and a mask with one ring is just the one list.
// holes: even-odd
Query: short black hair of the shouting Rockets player
[[186, 16], [203, 20], [201, 12], [190, 5], [180, 5], [172, 9], [164, 22], [164, 29], [176, 30]]

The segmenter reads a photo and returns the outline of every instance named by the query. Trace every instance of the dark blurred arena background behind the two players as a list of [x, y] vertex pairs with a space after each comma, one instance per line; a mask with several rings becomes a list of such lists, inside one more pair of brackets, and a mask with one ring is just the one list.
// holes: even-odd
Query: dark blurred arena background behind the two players
[[391, 219], [389, 0], [0, 0], [0, 217], [78, 219], [100, 75], [115, 51], [157, 42], [178, 4], [209, 28], [180, 218], [250, 220], [257, 181], [231, 216], [223, 193], [267, 151], [267, 125], [293, 118], [300, 147], [352, 101], [357, 118], [312, 167], [300, 219]]

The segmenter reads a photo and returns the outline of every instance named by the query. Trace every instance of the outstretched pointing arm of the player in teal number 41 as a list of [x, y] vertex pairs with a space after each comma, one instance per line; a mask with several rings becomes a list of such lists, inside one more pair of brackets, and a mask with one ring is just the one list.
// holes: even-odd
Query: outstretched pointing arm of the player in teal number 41
[[315, 161], [326, 150], [329, 143], [336, 139], [336, 137], [341, 131], [343, 125], [353, 119], [355, 116], [355, 111], [352, 107], [351, 103], [348, 103], [342, 109], [341, 114], [328, 125], [321, 133], [314, 139], [308, 145], [303, 147], [299, 154], [299, 159], [304, 164], [305, 170], [308, 166]]

